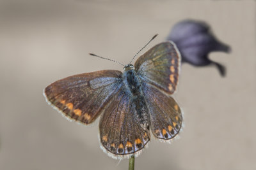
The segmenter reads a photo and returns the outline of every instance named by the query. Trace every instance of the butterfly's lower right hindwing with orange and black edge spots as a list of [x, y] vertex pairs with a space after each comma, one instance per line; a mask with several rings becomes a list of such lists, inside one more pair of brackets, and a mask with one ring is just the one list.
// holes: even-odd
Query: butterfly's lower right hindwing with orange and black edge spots
[[147, 101], [150, 129], [158, 139], [168, 141], [179, 134], [182, 127], [182, 112], [169, 95], [144, 83], [143, 94]]

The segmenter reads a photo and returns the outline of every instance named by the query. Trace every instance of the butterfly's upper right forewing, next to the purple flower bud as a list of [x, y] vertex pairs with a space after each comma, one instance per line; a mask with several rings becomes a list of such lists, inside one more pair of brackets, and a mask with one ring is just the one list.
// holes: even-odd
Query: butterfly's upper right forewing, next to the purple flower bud
[[150, 48], [136, 60], [134, 66], [141, 80], [168, 94], [175, 91], [179, 79], [180, 54], [172, 41]]

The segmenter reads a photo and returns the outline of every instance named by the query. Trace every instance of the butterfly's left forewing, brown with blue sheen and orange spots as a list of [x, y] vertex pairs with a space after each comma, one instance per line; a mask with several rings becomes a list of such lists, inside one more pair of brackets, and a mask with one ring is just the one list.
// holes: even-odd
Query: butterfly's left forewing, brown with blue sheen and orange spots
[[122, 72], [108, 70], [77, 74], [45, 88], [49, 103], [69, 120], [92, 123], [122, 87]]

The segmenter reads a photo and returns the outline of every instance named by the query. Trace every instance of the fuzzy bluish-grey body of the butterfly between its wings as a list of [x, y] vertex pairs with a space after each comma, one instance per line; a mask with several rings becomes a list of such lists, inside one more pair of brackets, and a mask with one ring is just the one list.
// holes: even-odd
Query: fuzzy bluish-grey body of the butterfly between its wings
[[149, 128], [148, 108], [141, 90], [141, 80], [134, 67], [129, 64], [124, 68], [123, 78], [125, 89], [131, 97], [131, 109], [134, 118], [144, 129]]

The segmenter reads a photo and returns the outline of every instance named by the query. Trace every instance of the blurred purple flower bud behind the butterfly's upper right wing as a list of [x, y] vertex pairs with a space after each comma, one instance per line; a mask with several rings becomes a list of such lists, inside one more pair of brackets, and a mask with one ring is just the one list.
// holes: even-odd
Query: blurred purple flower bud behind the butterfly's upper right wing
[[209, 66], [214, 64], [225, 76], [225, 66], [208, 58], [210, 52], [230, 52], [230, 47], [218, 41], [205, 22], [184, 20], [173, 26], [167, 37], [180, 50], [182, 62], [193, 66]]

